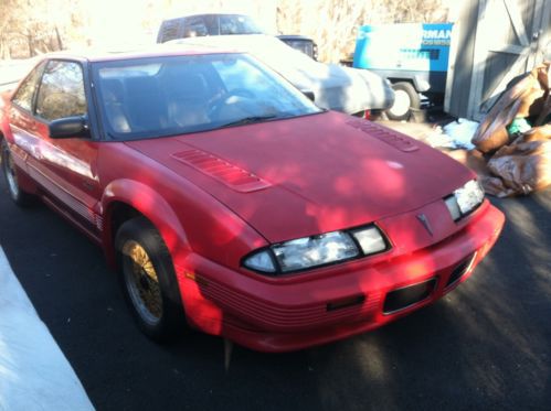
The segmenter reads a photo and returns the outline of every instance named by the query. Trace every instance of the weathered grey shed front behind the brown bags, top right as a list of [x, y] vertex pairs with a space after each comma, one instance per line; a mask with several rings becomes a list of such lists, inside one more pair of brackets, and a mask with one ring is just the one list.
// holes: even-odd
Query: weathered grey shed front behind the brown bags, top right
[[517, 75], [543, 60], [550, 0], [466, 0], [452, 35], [445, 110], [480, 120]]

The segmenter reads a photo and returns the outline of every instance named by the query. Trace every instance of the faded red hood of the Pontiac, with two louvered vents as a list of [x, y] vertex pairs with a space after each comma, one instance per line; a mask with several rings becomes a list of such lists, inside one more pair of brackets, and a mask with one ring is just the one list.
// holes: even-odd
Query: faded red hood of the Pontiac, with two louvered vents
[[473, 179], [421, 142], [337, 112], [127, 144], [202, 187], [271, 242], [416, 209]]

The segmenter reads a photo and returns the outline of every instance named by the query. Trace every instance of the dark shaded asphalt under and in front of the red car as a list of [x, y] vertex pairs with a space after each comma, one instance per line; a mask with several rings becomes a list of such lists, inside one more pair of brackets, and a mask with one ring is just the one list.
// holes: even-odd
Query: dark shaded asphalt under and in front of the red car
[[474, 275], [378, 331], [293, 354], [193, 333], [159, 346], [134, 325], [102, 251], [0, 183], [0, 245], [98, 410], [551, 410], [551, 190], [507, 215]]

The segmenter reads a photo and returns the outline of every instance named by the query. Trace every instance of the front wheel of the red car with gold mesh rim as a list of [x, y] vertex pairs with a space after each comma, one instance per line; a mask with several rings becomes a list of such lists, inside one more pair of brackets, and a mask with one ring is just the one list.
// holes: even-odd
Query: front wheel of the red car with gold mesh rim
[[183, 306], [170, 253], [146, 218], [126, 221], [115, 239], [125, 298], [141, 331], [166, 342], [186, 329]]

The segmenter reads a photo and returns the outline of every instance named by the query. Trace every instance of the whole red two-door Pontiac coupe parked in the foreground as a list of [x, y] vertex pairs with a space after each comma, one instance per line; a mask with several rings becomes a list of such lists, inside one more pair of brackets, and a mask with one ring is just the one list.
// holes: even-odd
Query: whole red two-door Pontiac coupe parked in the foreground
[[504, 215], [427, 145], [316, 107], [248, 55], [49, 55], [2, 169], [105, 250], [141, 329], [265, 351], [375, 328], [465, 281]]

